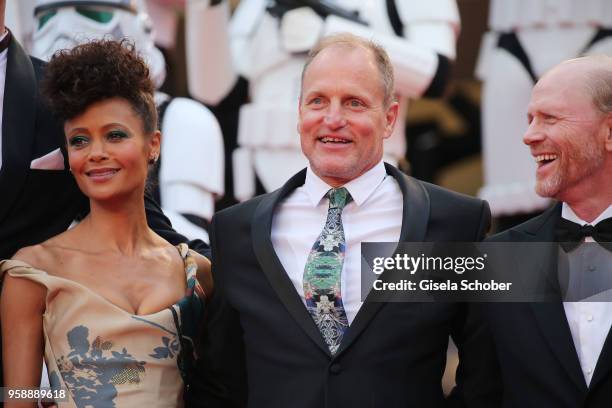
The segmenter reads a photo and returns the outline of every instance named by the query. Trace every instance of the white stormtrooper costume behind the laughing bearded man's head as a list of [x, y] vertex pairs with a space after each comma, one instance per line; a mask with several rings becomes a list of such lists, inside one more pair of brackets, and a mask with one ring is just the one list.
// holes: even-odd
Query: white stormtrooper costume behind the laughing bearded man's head
[[609, 0], [492, 0], [490, 32], [477, 66], [483, 82], [481, 198], [496, 217], [542, 210], [536, 164], [521, 137], [533, 85], [559, 62], [581, 54], [612, 55]]

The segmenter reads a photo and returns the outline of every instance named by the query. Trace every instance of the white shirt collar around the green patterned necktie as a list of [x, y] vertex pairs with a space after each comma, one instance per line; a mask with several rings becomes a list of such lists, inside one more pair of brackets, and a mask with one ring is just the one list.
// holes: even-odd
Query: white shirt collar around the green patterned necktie
[[[351, 194], [353, 201], [358, 206], [362, 205], [370, 195], [376, 190], [376, 188], [383, 182], [387, 177], [387, 171], [385, 165], [382, 162], [378, 162], [370, 170], [363, 173], [361, 176], [354, 180], [349, 181], [343, 187], [345, 187]], [[331, 187], [329, 184], [321, 180], [319, 176], [308, 166], [306, 171], [306, 181], [304, 182], [304, 190], [308, 195], [308, 199], [313, 207], [316, 207], [321, 202], [321, 199], [325, 197], [325, 194]]]

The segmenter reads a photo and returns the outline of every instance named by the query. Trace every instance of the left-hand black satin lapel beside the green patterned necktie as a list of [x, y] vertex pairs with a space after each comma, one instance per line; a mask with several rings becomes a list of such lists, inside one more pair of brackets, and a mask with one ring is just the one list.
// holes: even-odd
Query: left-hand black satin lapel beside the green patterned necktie
[[272, 245], [272, 217], [274, 209], [280, 201], [304, 184], [306, 172], [302, 171], [292, 177], [280, 190], [266, 196], [257, 206], [252, 220], [253, 250], [261, 265], [261, 269], [268, 278], [270, 285], [283, 302], [291, 316], [306, 332], [321, 350], [330, 355], [329, 348], [325, 344], [319, 329], [315, 325], [312, 317], [306, 310], [306, 306], [295, 290], [289, 275], [283, 268], [278, 259], [274, 246]]

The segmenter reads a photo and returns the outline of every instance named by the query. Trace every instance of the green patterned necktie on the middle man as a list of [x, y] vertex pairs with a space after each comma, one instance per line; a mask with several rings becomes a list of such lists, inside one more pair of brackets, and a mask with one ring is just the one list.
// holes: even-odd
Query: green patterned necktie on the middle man
[[340, 291], [340, 275], [346, 252], [342, 209], [351, 200], [351, 195], [346, 188], [341, 187], [329, 190], [327, 197], [327, 220], [312, 246], [304, 268], [304, 295], [306, 308], [333, 355], [348, 329]]

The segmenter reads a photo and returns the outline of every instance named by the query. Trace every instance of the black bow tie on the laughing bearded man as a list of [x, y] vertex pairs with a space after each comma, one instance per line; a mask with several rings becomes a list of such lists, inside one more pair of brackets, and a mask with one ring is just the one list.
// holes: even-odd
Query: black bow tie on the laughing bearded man
[[612, 218], [595, 226], [580, 225], [561, 218], [555, 228], [555, 237], [565, 252], [576, 248], [586, 237], [592, 237], [599, 245], [612, 252]]

